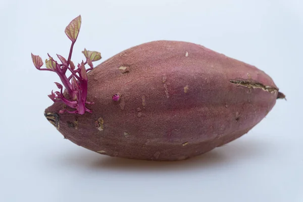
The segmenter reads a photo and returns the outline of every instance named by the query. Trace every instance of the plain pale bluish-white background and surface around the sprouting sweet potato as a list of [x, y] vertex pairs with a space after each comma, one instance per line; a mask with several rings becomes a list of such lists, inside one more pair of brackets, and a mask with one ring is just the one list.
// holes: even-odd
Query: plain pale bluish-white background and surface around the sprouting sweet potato
[[[0, 3], [0, 201], [303, 201], [303, 2], [4, 1]], [[248, 134], [182, 162], [110, 158], [79, 147], [43, 111], [57, 75], [30, 53], [66, 56], [64, 29], [81, 14], [74, 61], [103, 60], [152, 40], [198, 43], [257, 66], [285, 100]], [[95, 63], [97, 65], [98, 63]]]

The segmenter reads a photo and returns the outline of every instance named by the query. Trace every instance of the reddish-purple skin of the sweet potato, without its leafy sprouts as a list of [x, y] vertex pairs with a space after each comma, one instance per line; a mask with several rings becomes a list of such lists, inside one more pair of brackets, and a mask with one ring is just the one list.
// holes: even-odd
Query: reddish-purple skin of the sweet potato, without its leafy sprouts
[[273, 80], [256, 67], [201, 45], [163, 40], [129, 48], [88, 73], [92, 114], [59, 114], [64, 105], [55, 103], [45, 115], [65, 138], [100, 154], [176, 161], [247, 133], [277, 97]]

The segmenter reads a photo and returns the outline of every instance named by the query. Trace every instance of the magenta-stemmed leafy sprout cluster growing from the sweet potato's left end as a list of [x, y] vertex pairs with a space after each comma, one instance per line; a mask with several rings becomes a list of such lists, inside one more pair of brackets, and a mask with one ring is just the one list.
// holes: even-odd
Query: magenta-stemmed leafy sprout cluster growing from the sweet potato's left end
[[[58, 74], [62, 84], [55, 82], [60, 91], [53, 92], [48, 95], [55, 103], [64, 103], [66, 106], [75, 109], [74, 111], [68, 111], [66, 109], [62, 109], [59, 113], [71, 113], [71, 114], [81, 114], [83, 115], [85, 112], [91, 113], [91, 110], [87, 109], [85, 104], [94, 104], [92, 102], [87, 102], [87, 72], [93, 69], [92, 62], [100, 60], [101, 54], [95, 51], [87, 51], [84, 48], [82, 53], [84, 54], [86, 61], [82, 62], [75, 67], [74, 63], [71, 61], [72, 52], [74, 44], [77, 40], [81, 27], [81, 16], [79, 15], [75, 19], [73, 19], [70, 24], [65, 28], [65, 33], [68, 38], [72, 41], [70, 53], [68, 59], [65, 59], [63, 56], [58, 55], [61, 63], [58, 63], [47, 54], [48, 59], [45, 60], [45, 67], [43, 66], [42, 59], [39, 56], [31, 54], [32, 61], [34, 66], [38, 70], [42, 71], [52, 71]], [[85, 65], [88, 64], [89, 68], [86, 69]], [[67, 70], [71, 72], [69, 77], [66, 76]], [[68, 96], [66, 97], [63, 93], [63, 86], [65, 87]]]

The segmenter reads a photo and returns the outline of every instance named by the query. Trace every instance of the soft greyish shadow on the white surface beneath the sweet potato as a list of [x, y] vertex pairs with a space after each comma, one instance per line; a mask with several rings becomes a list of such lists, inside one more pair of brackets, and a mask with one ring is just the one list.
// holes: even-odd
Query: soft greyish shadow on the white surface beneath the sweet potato
[[84, 167], [93, 170], [172, 172], [220, 167], [245, 159], [253, 160], [264, 156], [266, 146], [262, 141], [257, 141], [256, 139], [239, 138], [237, 141], [217, 147], [206, 154], [182, 161], [160, 162], [122, 159], [94, 154], [91, 151], [81, 154], [69, 154], [58, 159], [58, 161], [60, 165], [65, 167]]

